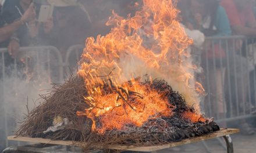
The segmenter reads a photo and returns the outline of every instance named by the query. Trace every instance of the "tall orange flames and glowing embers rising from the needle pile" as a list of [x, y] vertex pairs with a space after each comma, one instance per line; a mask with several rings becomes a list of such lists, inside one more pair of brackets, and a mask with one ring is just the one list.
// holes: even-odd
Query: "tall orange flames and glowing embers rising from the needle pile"
[[146, 74], [168, 81], [200, 112], [198, 91], [203, 89], [193, 83], [195, 66], [185, 51], [193, 41], [176, 20], [179, 10], [172, 0], [143, 0], [143, 4], [127, 19], [113, 12], [106, 23], [112, 25], [111, 32], [86, 40], [78, 75], [86, 82], [88, 108], [77, 115], [90, 118], [96, 132], [172, 116], [174, 106], [163, 96], [166, 93], [141, 83]]

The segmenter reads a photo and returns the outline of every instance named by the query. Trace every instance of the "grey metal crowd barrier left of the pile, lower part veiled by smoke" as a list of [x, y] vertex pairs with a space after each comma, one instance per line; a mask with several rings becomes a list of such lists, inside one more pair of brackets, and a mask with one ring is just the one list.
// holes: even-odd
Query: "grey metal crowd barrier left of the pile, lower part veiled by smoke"
[[[38, 88], [41, 82], [48, 85], [52, 82], [61, 83], [63, 81], [62, 64], [61, 53], [53, 46], [20, 48], [15, 59], [9, 56], [6, 48], [0, 49], [0, 103], [2, 105], [0, 108], [0, 149], [12, 144], [5, 138], [14, 134], [13, 128], [16, 122], [20, 122], [15, 116], [23, 113], [22, 108], [19, 107], [26, 107], [26, 105], [19, 106], [24, 99], [20, 99], [17, 94], [31, 88], [33, 83], [36, 86], [38, 83]], [[20, 87], [21, 82], [27, 82], [27, 84], [23, 83]], [[29, 100], [29, 97], [27, 99]], [[15, 111], [19, 111], [17, 107], [20, 110], [19, 114], [15, 114]], [[4, 144], [2, 144], [3, 141], [5, 141]]]

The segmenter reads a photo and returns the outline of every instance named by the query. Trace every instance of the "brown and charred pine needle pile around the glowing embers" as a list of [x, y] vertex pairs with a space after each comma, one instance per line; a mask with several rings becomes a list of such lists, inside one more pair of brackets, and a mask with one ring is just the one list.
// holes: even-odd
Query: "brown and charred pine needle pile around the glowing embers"
[[[180, 141], [195, 136], [202, 136], [219, 130], [211, 119], [204, 116], [204, 121], [198, 119], [192, 122], [182, 117], [184, 112], [194, 112], [194, 108], [186, 105], [183, 97], [172, 90], [163, 80], [141, 82], [154, 90], [166, 92], [168, 103], [175, 106], [170, 118], [160, 117], [149, 119], [143, 126], [126, 125], [125, 130], [107, 130], [104, 134], [91, 131], [92, 121], [86, 116], [77, 116], [77, 111], [84, 111], [88, 105], [84, 97], [88, 96], [84, 79], [70, 77], [63, 84], [55, 84], [52, 90], [41, 95], [43, 103], [29, 112], [27, 118], [17, 130], [18, 136], [42, 137], [52, 140], [72, 140], [82, 144], [84, 150], [108, 148], [111, 145], [155, 145], [172, 141]], [[56, 132], [43, 133], [53, 126], [56, 116], [69, 119], [71, 124], [65, 125]]]

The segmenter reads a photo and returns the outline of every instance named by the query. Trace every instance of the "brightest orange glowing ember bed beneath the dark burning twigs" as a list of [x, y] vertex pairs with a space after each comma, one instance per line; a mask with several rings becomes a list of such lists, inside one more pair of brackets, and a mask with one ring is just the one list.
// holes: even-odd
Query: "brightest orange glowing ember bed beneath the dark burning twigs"
[[[138, 85], [138, 84], [137, 84]], [[130, 89], [134, 89], [134, 85]], [[149, 118], [158, 118], [159, 116], [172, 115], [173, 106], [167, 101], [168, 99], [159, 97], [158, 92], [150, 90], [149, 87], [138, 85], [137, 93], [140, 95], [129, 95], [127, 102], [116, 100], [117, 94], [110, 93], [106, 95], [95, 95], [94, 101], [97, 107], [89, 108], [86, 112], [77, 112], [78, 115], [99, 117], [102, 128], [98, 132], [104, 133], [109, 129], [122, 129], [127, 123], [141, 126]], [[130, 93], [131, 94], [131, 93]], [[119, 97], [120, 99], [120, 97]], [[130, 104], [130, 105], [129, 105]], [[95, 121], [95, 120], [93, 120]], [[93, 129], [95, 130], [95, 122]]]

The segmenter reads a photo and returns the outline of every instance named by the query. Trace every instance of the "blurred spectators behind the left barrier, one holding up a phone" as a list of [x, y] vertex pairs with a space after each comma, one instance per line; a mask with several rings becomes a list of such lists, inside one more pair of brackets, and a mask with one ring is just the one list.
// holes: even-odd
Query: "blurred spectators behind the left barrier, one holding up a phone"
[[[66, 0], [9, 0], [1, 6], [0, 47], [8, 48], [9, 55], [15, 57], [19, 46], [56, 46], [63, 55], [67, 48], [84, 44], [87, 37], [105, 35], [110, 30], [105, 26], [111, 10], [132, 4], [132, 1], [66, 1]], [[54, 6], [52, 16], [46, 21], [38, 21], [40, 6]]]

